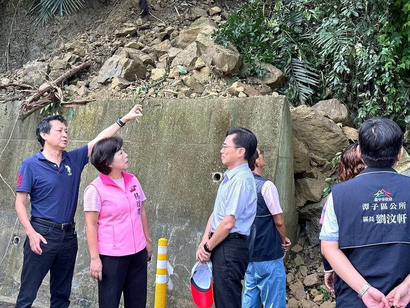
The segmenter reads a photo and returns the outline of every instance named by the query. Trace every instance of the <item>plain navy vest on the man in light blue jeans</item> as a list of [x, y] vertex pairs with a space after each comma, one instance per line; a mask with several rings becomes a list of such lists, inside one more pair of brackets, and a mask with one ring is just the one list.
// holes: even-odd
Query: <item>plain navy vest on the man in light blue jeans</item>
[[251, 226], [248, 237], [249, 261], [270, 261], [283, 256], [282, 245], [272, 214], [262, 197], [262, 186], [268, 181], [257, 174], [253, 174], [256, 182], [258, 196], [256, 217]]

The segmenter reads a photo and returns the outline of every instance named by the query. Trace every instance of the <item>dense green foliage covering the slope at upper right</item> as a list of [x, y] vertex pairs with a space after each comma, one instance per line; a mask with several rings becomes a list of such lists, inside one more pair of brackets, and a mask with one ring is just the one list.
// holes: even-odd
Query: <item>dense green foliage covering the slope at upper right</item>
[[[410, 128], [410, 0], [250, 0], [214, 33], [260, 74], [283, 70], [293, 105], [338, 98], [357, 125], [384, 116]], [[407, 134], [406, 134], [407, 135]]]

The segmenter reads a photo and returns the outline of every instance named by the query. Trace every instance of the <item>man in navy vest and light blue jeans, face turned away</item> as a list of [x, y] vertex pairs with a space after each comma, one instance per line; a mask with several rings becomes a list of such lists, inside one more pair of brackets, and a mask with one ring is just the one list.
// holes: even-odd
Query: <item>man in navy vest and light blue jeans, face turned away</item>
[[278, 191], [262, 178], [265, 166], [262, 151], [256, 149], [248, 162], [256, 182], [256, 217], [248, 238], [249, 264], [245, 275], [242, 308], [286, 308], [286, 274], [283, 256], [291, 241], [279, 204]]

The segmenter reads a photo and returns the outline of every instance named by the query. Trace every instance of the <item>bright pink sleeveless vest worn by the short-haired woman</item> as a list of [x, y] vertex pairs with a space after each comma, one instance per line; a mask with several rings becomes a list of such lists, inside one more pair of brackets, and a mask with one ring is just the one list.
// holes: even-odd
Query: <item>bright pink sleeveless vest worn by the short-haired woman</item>
[[126, 191], [103, 174], [90, 183], [101, 199], [97, 226], [101, 255], [128, 256], [147, 245], [141, 223], [141, 202], [146, 197], [134, 175], [122, 172], [122, 176]]

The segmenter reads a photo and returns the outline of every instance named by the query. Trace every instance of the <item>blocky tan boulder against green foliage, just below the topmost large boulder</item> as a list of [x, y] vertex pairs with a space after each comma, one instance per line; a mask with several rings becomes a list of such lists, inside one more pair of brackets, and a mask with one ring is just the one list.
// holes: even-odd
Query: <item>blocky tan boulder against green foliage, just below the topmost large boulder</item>
[[239, 73], [240, 53], [235, 46], [224, 47], [214, 44], [207, 48], [206, 54], [212, 57], [212, 65], [215, 65], [222, 72], [232, 75]]

